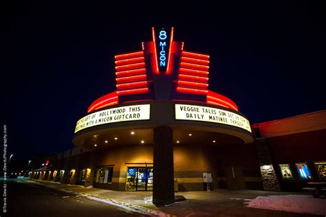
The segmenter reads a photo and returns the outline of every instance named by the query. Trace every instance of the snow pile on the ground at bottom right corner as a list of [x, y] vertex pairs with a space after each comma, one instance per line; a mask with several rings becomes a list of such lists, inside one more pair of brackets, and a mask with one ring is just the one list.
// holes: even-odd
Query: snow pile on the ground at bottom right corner
[[258, 209], [326, 216], [326, 198], [313, 198], [310, 195], [258, 196], [246, 204], [246, 207]]

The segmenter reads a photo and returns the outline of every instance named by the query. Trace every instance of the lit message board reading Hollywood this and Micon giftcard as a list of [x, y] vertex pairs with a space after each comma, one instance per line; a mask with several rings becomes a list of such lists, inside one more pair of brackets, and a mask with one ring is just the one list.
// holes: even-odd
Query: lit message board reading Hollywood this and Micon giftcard
[[91, 113], [78, 120], [75, 133], [79, 130], [97, 126], [100, 124], [109, 124], [114, 122], [130, 122], [137, 120], [150, 119], [150, 104], [122, 106], [113, 109], [105, 109]]

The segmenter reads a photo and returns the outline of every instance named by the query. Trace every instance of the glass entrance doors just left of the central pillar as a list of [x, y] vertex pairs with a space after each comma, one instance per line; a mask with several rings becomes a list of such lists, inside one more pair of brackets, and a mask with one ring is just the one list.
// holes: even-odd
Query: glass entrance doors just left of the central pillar
[[153, 168], [152, 167], [128, 167], [126, 191], [152, 191]]

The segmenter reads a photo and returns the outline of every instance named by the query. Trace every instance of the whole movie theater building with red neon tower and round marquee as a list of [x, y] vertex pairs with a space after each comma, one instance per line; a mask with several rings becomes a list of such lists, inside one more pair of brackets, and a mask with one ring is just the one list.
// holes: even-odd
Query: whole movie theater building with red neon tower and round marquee
[[153, 191], [153, 203], [169, 204], [175, 191], [299, 190], [325, 179], [325, 111], [250, 126], [208, 89], [208, 55], [173, 41], [173, 28], [151, 33], [115, 56], [117, 90], [80, 117], [76, 148], [58, 155], [47, 180]]

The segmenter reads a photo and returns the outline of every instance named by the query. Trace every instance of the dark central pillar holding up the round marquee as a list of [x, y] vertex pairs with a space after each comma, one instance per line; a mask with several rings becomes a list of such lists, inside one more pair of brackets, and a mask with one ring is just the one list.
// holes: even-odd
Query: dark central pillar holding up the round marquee
[[154, 128], [153, 204], [175, 203], [173, 170], [173, 130], [167, 126]]

